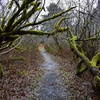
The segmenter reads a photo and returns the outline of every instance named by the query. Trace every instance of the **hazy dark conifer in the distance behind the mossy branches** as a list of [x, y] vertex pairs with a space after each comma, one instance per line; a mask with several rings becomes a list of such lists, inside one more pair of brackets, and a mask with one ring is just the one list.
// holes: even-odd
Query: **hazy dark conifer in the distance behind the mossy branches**
[[[47, 11], [48, 11], [48, 14], [46, 15], [43, 15], [43, 19], [45, 18], [49, 18], [50, 16], [53, 16], [54, 14], [58, 13], [58, 12], [61, 12], [63, 11], [57, 4], [55, 3], [51, 3], [48, 7], [47, 7]], [[57, 23], [60, 19], [61, 19], [62, 16], [59, 16], [58, 18], [54, 19], [54, 20], [51, 20], [49, 22], [45, 22], [45, 23], [42, 23], [41, 25], [41, 30], [42, 31], [46, 31], [46, 32], [50, 32], [51, 30], [54, 29], [55, 27], [55, 23]], [[46, 39], [48, 39], [49, 36], [47, 37], [42, 37], [42, 40], [45, 42]], [[55, 35], [49, 37], [49, 40], [46, 42], [47, 44], [49, 43], [52, 43], [52, 44], [55, 44], [57, 46], [59, 46], [59, 40], [57, 39], [58, 37]]]

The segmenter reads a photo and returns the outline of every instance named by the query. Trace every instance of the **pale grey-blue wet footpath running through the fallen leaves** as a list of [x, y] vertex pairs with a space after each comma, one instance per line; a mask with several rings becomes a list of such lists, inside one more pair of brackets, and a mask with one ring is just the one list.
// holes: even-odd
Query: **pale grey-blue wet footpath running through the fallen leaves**
[[59, 64], [44, 48], [39, 48], [39, 50], [44, 60], [41, 67], [45, 71], [40, 82], [37, 100], [70, 100], [69, 93], [59, 75]]

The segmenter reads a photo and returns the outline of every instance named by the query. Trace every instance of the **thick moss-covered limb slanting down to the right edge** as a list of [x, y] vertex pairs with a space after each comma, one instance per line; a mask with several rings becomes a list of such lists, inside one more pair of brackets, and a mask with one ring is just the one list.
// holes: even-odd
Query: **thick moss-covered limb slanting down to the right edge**
[[[74, 49], [74, 52], [81, 58], [81, 60], [86, 64], [87, 68], [90, 69], [92, 72], [94, 78], [96, 78], [96, 87], [100, 86], [100, 66], [97, 65], [97, 62], [100, 61], [100, 52], [98, 52], [92, 60], [89, 60], [89, 58], [85, 55], [83, 50], [79, 50], [77, 41], [77, 36], [74, 36], [71, 32], [71, 30], [68, 30], [70, 34], [70, 40], [69, 43], [71, 45], [71, 48]], [[84, 69], [80, 70], [81, 72], [84, 71]], [[100, 87], [99, 87], [100, 88]]]

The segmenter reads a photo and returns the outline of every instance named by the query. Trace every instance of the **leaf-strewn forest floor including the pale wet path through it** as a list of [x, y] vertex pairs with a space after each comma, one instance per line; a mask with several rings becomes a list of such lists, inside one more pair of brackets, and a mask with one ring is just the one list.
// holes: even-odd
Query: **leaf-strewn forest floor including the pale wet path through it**
[[2, 56], [1, 64], [0, 100], [99, 100], [90, 73], [75, 75], [70, 49], [59, 56], [37, 48], [12, 51]]

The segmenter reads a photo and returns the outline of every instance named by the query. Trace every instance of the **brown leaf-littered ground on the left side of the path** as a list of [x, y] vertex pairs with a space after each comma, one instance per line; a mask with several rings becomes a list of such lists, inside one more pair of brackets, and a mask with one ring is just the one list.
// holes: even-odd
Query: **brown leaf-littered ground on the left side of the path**
[[34, 89], [42, 75], [37, 49], [13, 50], [0, 60], [4, 67], [0, 100], [36, 100]]

